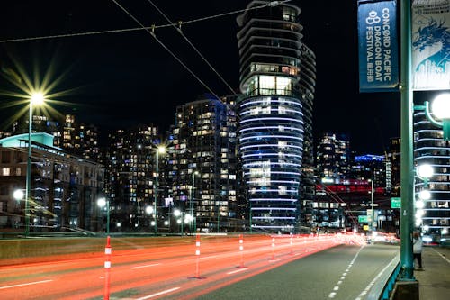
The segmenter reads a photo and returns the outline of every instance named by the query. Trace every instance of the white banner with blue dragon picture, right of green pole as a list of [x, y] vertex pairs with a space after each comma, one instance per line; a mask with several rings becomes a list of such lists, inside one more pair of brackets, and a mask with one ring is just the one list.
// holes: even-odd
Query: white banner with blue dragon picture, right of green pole
[[411, 13], [413, 89], [449, 89], [450, 1], [414, 0]]

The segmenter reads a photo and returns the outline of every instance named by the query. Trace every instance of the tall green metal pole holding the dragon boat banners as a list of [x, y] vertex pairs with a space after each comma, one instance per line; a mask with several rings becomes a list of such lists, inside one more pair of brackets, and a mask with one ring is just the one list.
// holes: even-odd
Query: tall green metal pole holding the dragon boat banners
[[412, 225], [414, 158], [412, 143], [411, 1], [401, 0], [401, 278], [413, 279]]

